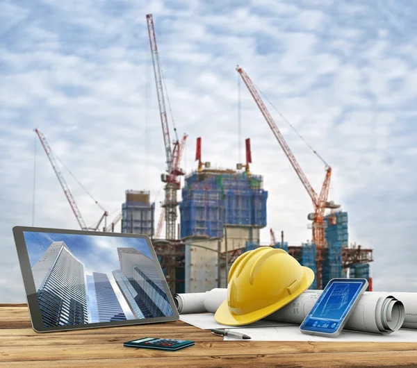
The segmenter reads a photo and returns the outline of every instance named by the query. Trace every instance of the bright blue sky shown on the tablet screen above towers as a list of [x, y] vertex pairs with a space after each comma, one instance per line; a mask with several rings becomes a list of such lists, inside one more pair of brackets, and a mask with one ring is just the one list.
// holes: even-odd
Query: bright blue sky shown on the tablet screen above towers
[[83, 263], [86, 275], [92, 276], [93, 272], [107, 275], [126, 318], [135, 318], [122, 296], [112, 272], [120, 269], [117, 247], [137, 249], [140, 253], [152, 259], [152, 254], [146, 240], [134, 237], [87, 236], [26, 231], [24, 232], [24, 240], [26, 242], [31, 267], [38, 262], [42, 254], [53, 242], [64, 242], [68, 249], [70, 249], [72, 255]]

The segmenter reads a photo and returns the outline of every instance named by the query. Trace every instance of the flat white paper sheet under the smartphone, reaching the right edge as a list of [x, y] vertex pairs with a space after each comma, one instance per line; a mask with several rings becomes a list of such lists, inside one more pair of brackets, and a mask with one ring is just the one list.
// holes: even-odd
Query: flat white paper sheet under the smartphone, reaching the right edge
[[[328, 342], [417, 342], [417, 331], [398, 330], [392, 335], [377, 335], [375, 333], [359, 333], [343, 330], [338, 337], [324, 337], [301, 333], [299, 326], [282, 326], [266, 328], [230, 328], [234, 331], [249, 335], [251, 340], [245, 341], [328, 341]], [[243, 341], [236, 337], [224, 336], [224, 341]]]

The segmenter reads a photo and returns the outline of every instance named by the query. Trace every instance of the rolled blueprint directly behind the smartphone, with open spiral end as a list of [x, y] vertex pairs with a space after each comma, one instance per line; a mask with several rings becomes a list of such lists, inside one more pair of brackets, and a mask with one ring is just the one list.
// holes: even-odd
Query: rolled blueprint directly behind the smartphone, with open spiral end
[[[265, 319], [301, 324], [318, 300], [322, 290], [308, 290]], [[389, 293], [366, 292], [361, 296], [345, 329], [389, 335], [404, 323], [404, 304]]]

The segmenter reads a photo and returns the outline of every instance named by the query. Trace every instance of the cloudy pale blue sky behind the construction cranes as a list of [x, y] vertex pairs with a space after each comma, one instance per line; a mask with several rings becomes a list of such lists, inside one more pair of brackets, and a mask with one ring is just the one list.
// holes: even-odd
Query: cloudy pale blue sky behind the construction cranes
[[[113, 217], [134, 189], [150, 190], [158, 218], [165, 153], [148, 13], [171, 136], [173, 125], [188, 134], [183, 168], [197, 169], [197, 137], [203, 160], [228, 168], [250, 137], [251, 171], [268, 190], [261, 241], [269, 228], [291, 245], [311, 239], [311, 199], [240, 65], [332, 166], [329, 199], [349, 213], [350, 242], [373, 249], [374, 290], [417, 292], [416, 11], [407, 0], [1, 0], [0, 302], [24, 301], [13, 226], [79, 228], [34, 128]], [[324, 164], [265, 104], [320, 192]], [[101, 208], [62, 172], [95, 224]]]

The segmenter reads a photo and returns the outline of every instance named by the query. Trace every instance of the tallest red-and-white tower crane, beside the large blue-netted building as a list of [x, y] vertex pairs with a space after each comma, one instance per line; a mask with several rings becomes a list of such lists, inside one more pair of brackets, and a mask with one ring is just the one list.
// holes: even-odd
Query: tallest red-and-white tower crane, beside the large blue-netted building
[[[170, 129], [168, 126], [167, 112], [165, 108], [165, 99], [163, 94], [163, 79], [161, 62], [159, 60], [158, 47], [156, 45], [156, 35], [154, 28], [154, 19], [152, 14], [146, 16], [147, 28], [149, 34], [149, 44], [151, 47], [152, 63], [154, 65], [154, 75], [156, 84], [156, 94], [158, 95], [159, 112], [161, 116], [161, 125], [163, 133], [163, 142], [165, 146], [166, 156], [166, 174], [161, 175], [163, 183], [165, 183], [165, 200], [162, 207], [164, 209], [165, 225], [166, 225], [166, 238], [167, 240], [175, 239], [175, 225], [177, 222], [177, 191], [180, 189], [181, 183], [179, 176], [185, 173], [179, 169], [179, 158], [181, 157], [181, 143], [177, 137], [177, 130], [174, 128], [176, 140], [174, 140], [174, 147], [171, 148]], [[183, 141], [186, 140], [186, 135], [183, 137]]]

